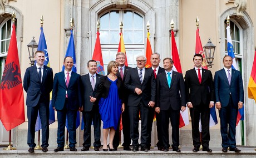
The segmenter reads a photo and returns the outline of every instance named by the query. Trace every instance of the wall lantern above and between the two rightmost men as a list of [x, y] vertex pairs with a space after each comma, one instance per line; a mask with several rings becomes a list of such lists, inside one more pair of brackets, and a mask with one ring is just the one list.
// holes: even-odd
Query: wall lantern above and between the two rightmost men
[[212, 63], [214, 60], [214, 52], [215, 52], [215, 45], [211, 43], [211, 39], [209, 38], [208, 42], [204, 45], [204, 53], [205, 53], [205, 59], [207, 64], [207, 67], [212, 67]]

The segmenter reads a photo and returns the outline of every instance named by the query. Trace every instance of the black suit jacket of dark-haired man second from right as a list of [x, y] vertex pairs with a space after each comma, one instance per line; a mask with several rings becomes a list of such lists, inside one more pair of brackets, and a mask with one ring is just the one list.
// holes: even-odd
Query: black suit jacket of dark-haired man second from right
[[191, 102], [193, 106], [209, 105], [214, 101], [213, 75], [210, 70], [202, 69], [201, 83], [199, 83], [196, 70], [190, 69], [185, 75], [186, 103]]

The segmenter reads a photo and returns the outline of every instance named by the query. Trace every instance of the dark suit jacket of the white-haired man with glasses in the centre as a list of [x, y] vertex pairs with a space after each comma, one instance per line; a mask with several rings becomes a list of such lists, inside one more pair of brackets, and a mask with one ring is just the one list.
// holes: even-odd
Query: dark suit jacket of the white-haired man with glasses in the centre
[[[128, 106], [139, 106], [140, 100], [147, 106], [149, 101], [155, 101], [156, 96], [156, 82], [153, 70], [145, 68], [144, 79], [142, 84], [138, 74], [137, 67], [130, 69], [125, 78], [125, 88], [129, 90]], [[137, 95], [135, 88], [142, 90], [142, 94]]]

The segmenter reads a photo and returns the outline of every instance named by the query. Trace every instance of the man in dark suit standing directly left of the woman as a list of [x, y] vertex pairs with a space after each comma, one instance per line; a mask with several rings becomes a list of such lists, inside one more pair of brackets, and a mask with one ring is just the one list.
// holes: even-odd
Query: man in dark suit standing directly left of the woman
[[91, 146], [91, 124], [93, 121], [94, 128], [94, 150], [99, 151], [101, 146], [100, 141], [100, 127], [101, 127], [101, 117], [99, 113], [98, 102], [92, 103], [90, 101], [90, 96], [95, 96], [97, 87], [99, 85], [100, 78], [102, 75], [96, 74], [97, 72], [97, 62], [95, 60], [89, 60], [87, 62], [87, 68], [89, 73], [81, 76], [82, 85], [82, 113], [83, 122], [85, 123], [83, 128], [83, 148], [82, 151], [87, 151]]

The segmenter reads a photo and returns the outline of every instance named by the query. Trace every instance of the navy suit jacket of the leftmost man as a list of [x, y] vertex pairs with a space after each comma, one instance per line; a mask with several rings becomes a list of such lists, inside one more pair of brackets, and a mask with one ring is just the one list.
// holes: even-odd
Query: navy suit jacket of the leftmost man
[[27, 106], [36, 106], [40, 97], [43, 97], [45, 104], [50, 102], [50, 92], [53, 85], [53, 73], [52, 68], [43, 65], [43, 77], [42, 83], [37, 73], [37, 67], [29, 67], [26, 70], [23, 80], [24, 90], [27, 92]]

